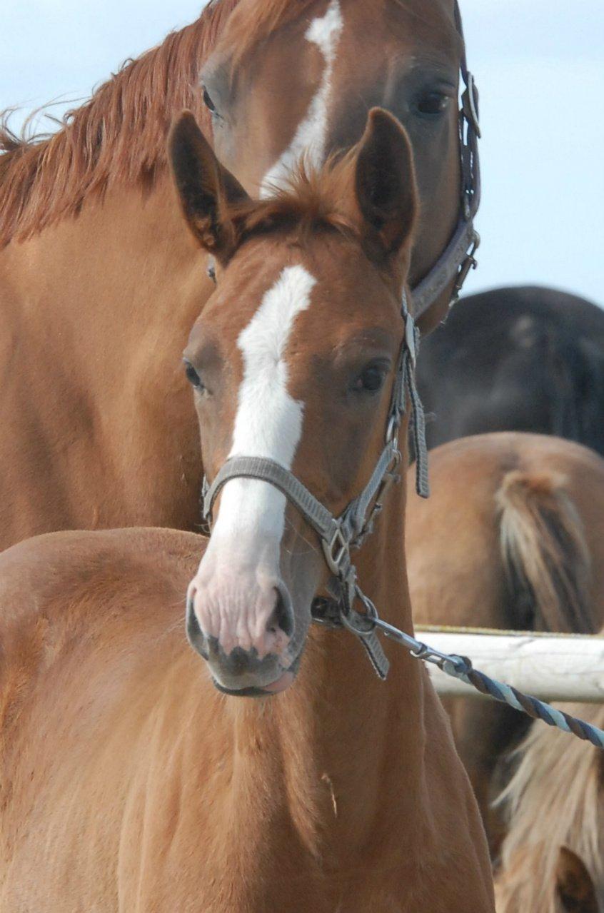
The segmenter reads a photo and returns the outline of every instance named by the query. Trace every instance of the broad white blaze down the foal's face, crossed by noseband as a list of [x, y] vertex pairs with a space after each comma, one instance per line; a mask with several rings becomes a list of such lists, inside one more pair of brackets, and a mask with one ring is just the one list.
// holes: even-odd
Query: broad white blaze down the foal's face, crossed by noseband
[[[283, 354], [296, 316], [310, 306], [315, 283], [316, 279], [302, 266], [283, 269], [239, 334], [243, 381], [228, 456], [268, 456], [291, 469], [302, 435], [303, 404], [288, 393]], [[228, 538], [244, 551], [249, 550], [250, 544], [258, 551], [263, 551], [263, 544], [270, 545], [270, 556], [265, 557], [278, 562], [285, 508], [285, 496], [268, 482], [230, 479], [222, 490], [207, 551], [212, 543]]]

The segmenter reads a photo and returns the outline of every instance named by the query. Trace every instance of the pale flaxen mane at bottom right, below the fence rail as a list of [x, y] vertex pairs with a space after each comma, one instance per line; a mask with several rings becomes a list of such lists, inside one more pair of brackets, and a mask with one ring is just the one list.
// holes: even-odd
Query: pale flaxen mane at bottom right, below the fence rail
[[[567, 712], [604, 725], [604, 707], [570, 705]], [[554, 738], [552, 738], [554, 736]], [[602, 758], [598, 749], [578, 739], [562, 747], [556, 733], [534, 726], [516, 753], [520, 764], [500, 801], [510, 830], [503, 843], [503, 906], [550, 913], [556, 885], [558, 849], [568, 846], [592, 876], [604, 876], [599, 845], [602, 809]], [[497, 908], [499, 909], [499, 907]]]

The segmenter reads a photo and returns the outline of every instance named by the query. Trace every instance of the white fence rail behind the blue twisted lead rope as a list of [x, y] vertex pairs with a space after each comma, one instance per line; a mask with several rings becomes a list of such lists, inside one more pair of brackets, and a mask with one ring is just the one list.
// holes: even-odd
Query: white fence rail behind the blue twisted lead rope
[[[604, 703], [603, 636], [422, 627], [415, 635], [443, 653], [469, 656], [481, 672], [535, 698]], [[441, 697], [482, 697], [436, 666], [429, 673]]]

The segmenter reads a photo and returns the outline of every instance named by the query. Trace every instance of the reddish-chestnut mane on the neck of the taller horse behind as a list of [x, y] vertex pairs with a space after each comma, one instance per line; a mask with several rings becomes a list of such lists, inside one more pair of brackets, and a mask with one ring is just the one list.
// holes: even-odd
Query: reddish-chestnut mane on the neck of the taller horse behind
[[111, 184], [151, 184], [165, 162], [173, 115], [189, 108], [209, 128], [199, 69], [238, 0], [211, 0], [190, 26], [128, 61], [54, 135], [26, 140], [0, 122], [0, 247], [23, 240]]

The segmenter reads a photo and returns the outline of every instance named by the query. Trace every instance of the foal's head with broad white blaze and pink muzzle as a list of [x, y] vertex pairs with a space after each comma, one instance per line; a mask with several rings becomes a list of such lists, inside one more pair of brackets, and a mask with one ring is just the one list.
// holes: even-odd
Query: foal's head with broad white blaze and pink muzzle
[[[217, 289], [185, 351], [207, 477], [229, 458], [269, 459], [337, 516], [384, 450], [403, 351], [417, 208], [406, 133], [373, 110], [344, 159], [261, 202], [190, 114], [170, 156], [188, 224], [217, 261]], [[259, 478], [228, 479], [213, 519], [189, 591], [189, 638], [218, 687], [282, 690], [327, 575], [316, 533]]]

